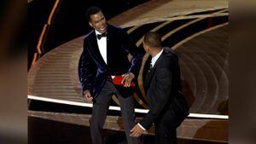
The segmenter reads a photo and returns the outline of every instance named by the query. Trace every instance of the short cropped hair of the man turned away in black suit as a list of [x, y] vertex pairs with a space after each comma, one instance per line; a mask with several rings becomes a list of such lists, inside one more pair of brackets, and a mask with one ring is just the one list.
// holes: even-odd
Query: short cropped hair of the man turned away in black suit
[[157, 32], [147, 32], [143, 39], [150, 47], [161, 47], [161, 37]]

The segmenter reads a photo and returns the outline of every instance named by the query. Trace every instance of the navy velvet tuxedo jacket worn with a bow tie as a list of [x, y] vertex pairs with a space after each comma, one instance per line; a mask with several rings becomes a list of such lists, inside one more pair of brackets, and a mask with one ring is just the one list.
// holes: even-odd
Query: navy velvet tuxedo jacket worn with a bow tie
[[[128, 54], [132, 55], [131, 62]], [[82, 92], [90, 89], [96, 97], [109, 76], [132, 72], [136, 78], [142, 63], [143, 53], [132, 42], [124, 29], [108, 25], [107, 61], [102, 58], [96, 40], [95, 30], [84, 37], [84, 50], [79, 61], [79, 78]]]

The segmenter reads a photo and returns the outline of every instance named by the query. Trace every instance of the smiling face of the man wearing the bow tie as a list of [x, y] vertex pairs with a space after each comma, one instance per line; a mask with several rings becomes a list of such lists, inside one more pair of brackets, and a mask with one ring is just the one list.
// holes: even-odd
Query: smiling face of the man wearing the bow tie
[[107, 31], [106, 19], [101, 11], [90, 15], [89, 25], [92, 26], [97, 32], [104, 33]]

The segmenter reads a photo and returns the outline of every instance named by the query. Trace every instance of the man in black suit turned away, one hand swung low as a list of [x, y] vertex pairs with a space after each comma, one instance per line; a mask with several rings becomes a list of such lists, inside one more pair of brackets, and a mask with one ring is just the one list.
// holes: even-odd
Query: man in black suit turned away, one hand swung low
[[149, 53], [143, 71], [143, 86], [148, 96], [149, 111], [131, 130], [138, 137], [155, 125], [155, 144], [176, 144], [176, 129], [189, 114], [189, 107], [181, 94], [180, 68], [177, 55], [170, 48], [162, 48], [161, 37], [148, 32], [143, 47]]

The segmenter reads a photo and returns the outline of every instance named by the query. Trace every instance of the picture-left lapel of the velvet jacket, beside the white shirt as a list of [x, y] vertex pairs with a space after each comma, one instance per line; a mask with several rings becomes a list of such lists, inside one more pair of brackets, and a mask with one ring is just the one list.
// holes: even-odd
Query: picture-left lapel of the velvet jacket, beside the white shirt
[[[93, 32], [90, 35], [90, 49], [92, 53], [96, 56], [96, 60], [100, 63], [101, 66], [107, 66], [105, 61], [102, 58], [97, 40], [96, 40], [96, 33]], [[108, 51], [108, 50], [107, 50]]]

